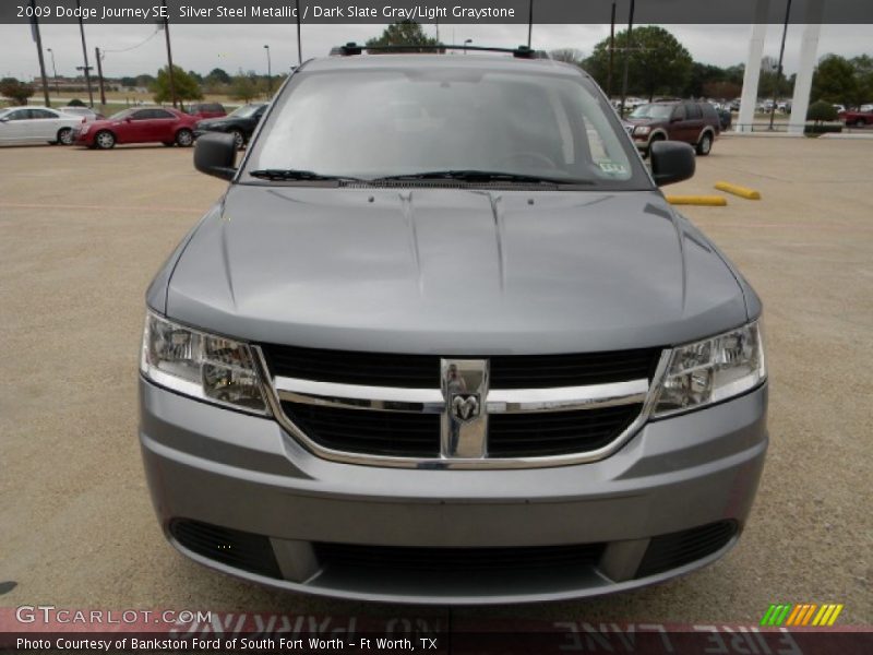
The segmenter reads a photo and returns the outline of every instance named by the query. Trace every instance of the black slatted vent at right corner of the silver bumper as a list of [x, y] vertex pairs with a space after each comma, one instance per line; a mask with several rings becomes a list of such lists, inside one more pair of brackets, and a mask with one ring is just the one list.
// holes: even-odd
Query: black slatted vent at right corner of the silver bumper
[[719, 521], [653, 537], [636, 576], [655, 575], [695, 562], [727, 546], [736, 534], [736, 521]]

